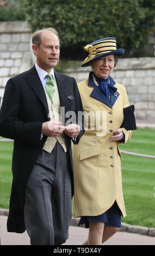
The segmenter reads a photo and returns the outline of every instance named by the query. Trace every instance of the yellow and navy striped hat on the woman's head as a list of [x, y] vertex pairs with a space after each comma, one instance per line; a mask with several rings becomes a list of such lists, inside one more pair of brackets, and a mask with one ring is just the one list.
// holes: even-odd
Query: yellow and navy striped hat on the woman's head
[[116, 39], [115, 38], [102, 38], [95, 42], [92, 42], [90, 45], [84, 47], [86, 52], [86, 58], [82, 66], [89, 66], [90, 62], [94, 59], [101, 58], [110, 54], [117, 54], [121, 57], [125, 50], [116, 48]]

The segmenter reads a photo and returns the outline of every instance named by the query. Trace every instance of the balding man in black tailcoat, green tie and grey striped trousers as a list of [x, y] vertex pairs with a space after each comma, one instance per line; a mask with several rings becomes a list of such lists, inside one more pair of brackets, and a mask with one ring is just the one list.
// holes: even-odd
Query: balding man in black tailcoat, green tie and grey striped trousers
[[[71, 139], [76, 144], [83, 135], [77, 120], [83, 107], [75, 79], [53, 70], [60, 54], [57, 31], [36, 31], [32, 49], [36, 63], [10, 78], [0, 115], [0, 135], [14, 139], [7, 227], [27, 229], [32, 245], [61, 245], [71, 220]], [[68, 113], [75, 114], [72, 124]]]

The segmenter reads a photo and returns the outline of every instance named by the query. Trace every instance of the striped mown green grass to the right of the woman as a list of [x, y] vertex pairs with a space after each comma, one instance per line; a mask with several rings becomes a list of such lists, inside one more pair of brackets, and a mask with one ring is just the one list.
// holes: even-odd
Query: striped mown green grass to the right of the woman
[[[155, 155], [155, 130], [138, 129], [121, 150]], [[121, 154], [127, 217], [122, 222], [155, 228], [155, 159]]]

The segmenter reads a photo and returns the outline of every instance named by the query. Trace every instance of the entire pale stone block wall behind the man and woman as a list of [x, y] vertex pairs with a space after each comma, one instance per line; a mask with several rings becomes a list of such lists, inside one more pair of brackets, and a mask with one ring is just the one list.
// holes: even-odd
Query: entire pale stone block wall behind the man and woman
[[[28, 70], [35, 62], [27, 22], [0, 22], [0, 96], [10, 77]], [[88, 78], [90, 68], [68, 69], [77, 82]], [[155, 57], [120, 59], [111, 76], [126, 87], [137, 119], [155, 123]]]

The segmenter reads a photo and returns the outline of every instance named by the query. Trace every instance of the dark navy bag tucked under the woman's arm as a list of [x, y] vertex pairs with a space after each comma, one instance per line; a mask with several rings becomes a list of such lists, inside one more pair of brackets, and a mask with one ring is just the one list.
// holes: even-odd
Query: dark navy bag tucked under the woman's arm
[[123, 115], [124, 119], [121, 127], [124, 127], [126, 130], [137, 130], [134, 116], [134, 105], [123, 108]]

